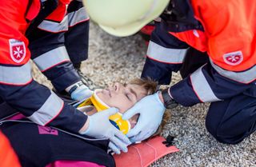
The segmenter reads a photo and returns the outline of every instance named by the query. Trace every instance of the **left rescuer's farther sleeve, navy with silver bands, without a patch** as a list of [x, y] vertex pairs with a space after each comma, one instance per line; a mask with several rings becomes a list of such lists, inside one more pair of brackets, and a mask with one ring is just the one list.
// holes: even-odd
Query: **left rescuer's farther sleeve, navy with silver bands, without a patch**
[[[50, 10], [54, 5], [56, 4], [50, 4], [48, 1], [42, 2], [46, 10]], [[50, 14], [46, 18], [43, 14], [38, 14], [36, 21], [32, 22], [26, 31], [26, 37], [30, 40], [31, 58], [54, 88], [61, 92], [81, 80], [70, 62], [65, 45], [65, 34], [72, 20], [69, 19], [69, 14], [66, 14], [66, 4], [62, 2], [59, 2], [54, 10], [44, 12]], [[76, 15], [73, 18], [75, 17]]]

